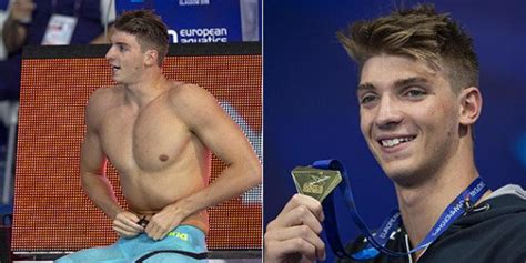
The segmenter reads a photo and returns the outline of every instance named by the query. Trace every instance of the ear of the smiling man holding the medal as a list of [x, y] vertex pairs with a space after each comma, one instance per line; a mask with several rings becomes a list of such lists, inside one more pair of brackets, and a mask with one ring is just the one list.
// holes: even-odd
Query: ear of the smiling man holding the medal
[[461, 103], [459, 122], [462, 125], [473, 125], [482, 111], [482, 94], [476, 87], [463, 89], [458, 95]]

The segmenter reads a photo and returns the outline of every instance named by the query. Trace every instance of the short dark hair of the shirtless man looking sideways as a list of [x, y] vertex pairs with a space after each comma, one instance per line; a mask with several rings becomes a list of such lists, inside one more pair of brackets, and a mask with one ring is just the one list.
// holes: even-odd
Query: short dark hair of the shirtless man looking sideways
[[161, 65], [168, 53], [169, 36], [166, 24], [151, 10], [123, 12], [114, 23], [115, 30], [136, 37], [141, 49], [155, 49], [159, 52], [158, 64]]

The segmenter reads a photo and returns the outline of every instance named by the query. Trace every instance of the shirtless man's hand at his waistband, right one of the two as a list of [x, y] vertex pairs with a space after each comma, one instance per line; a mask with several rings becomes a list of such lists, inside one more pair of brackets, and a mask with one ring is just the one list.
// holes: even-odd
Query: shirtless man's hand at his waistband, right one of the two
[[166, 205], [150, 219], [144, 231], [150, 239], [162, 240], [186, 218], [185, 214], [176, 203]]

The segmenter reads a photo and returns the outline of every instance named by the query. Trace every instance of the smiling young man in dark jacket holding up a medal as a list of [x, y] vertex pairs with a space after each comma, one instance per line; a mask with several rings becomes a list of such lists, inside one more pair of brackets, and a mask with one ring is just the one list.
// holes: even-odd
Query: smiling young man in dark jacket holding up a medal
[[[408, 252], [445, 229], [411, 255], [380, 253], [366, 262], [526, 262], [522, 188], [483, 190], [478, 200], [448, 208], [478, 182], [473, 125], [482, 95], [472, 39], [428, 4], [358, 21], [338, 39], [360, 67], [362, 134], [396, 190], [402, 224], [388, 232], [386, 246]], [[443, 220], [456, 209], [458, 219]], [[265, 262], [324, 259], [324, 216], [320, 202], [294, 195], [267, 225]], [[366, 246], [358, 237], [347, 250]]]

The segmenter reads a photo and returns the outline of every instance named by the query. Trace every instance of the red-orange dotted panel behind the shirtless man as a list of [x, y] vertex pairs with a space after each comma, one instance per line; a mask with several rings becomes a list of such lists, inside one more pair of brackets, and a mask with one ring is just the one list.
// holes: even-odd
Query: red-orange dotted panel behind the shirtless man
[[[196, 83], [227, 102], [251, 129], [253, 146], [261, 149], [260, 54], [168, 57], [163, 71], [169, 79]], [[13, 251], [75, 251], [117, 240], [111, 221], [83, 194], [79, 175], [84, 107], [97, 88], [113, 84], [110, 77], [103, 58], [22, 61]], [[213, 158], [211, 182], [223, 168]], [[111, 166], [108, 176], [125, 206]], [[209, 209], [209, 249], [261, 249], [261, 186], [243, 200]]]

